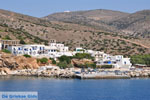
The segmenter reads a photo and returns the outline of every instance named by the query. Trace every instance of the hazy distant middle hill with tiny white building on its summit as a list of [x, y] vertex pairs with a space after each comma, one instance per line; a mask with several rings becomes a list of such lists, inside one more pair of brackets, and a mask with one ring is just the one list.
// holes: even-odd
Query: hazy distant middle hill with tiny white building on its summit
[[107, 25], [107, 22], [129, 15], [119, 11], [112, 10], [88, 10], [88, 11], [75, 11], [55, 13], [44, 17], [50, 21], [61, 21], [67, 23], [76, 23], [86, 26], [92, 26], [105, 31], [117, 31], [114, 27]]

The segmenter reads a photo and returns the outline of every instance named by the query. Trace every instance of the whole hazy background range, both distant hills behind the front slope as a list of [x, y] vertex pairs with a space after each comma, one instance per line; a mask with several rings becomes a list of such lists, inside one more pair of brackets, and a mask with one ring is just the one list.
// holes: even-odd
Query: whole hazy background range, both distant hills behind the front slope
[[88, 25], [109, 32], [125, 33], [135, 37], [150, 37], [150, 10], [133, 14], [111, 10], [64, 12], [44, 17], [50, 21], [62, 21]]

